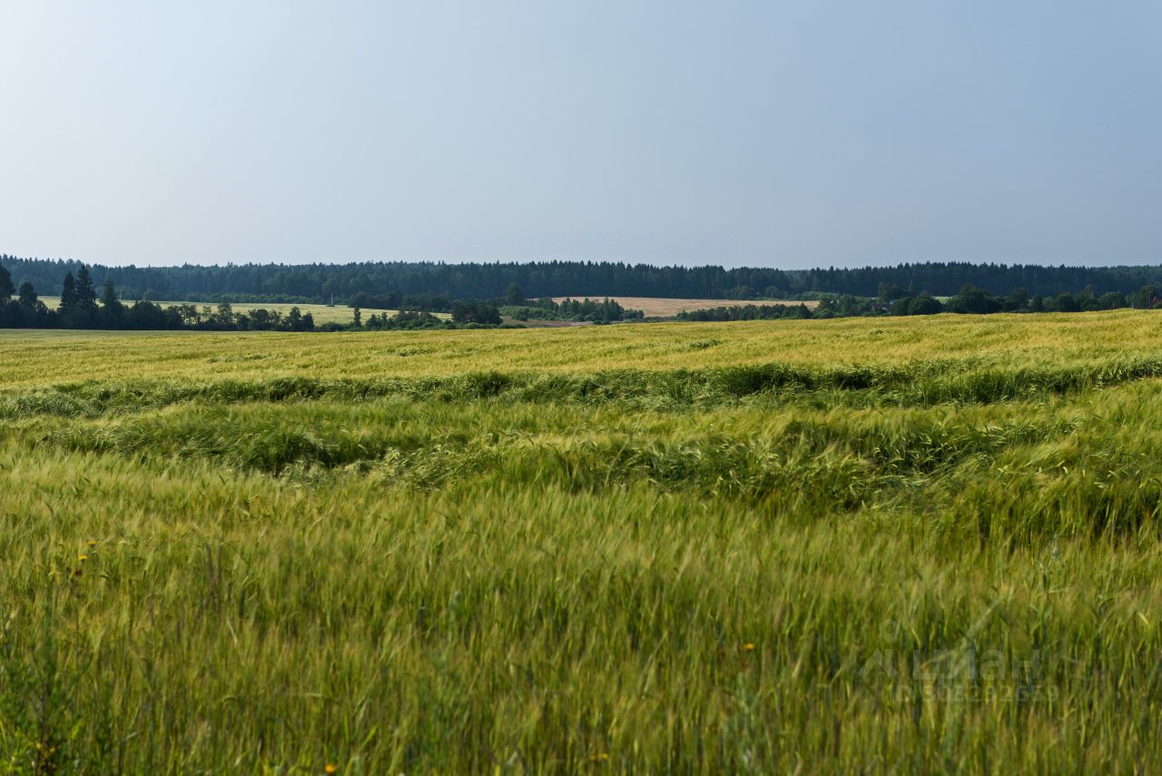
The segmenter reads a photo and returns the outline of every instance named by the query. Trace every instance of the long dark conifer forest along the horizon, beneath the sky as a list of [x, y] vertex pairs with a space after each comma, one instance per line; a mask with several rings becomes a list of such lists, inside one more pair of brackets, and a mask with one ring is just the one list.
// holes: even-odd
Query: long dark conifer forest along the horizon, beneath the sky
[[[0, 256], [16, 286], [59, 295], [62, 279], [80, 261]], [[973, 285], [994, 294], [1024, 289], [1052, 296], [1089, 287], [1097, 295], [1162, 286], [1162, 266], [1067, 267], [969, 263], [901, 264], [852, 270], [774, 270], [717, 266], [659, 267], [608, 261], [530, 264], [228, 264], [177, 267], [89, 265], [124, 300], [345, 303], [356, 294], [439, 295], [450, 300], [503, 297], [515, 283], [528, 299], [543, 296], [670, 296], [684, 299], [809, 299], [818, 294], [876, 296], [895, 286], [937, 296]]]

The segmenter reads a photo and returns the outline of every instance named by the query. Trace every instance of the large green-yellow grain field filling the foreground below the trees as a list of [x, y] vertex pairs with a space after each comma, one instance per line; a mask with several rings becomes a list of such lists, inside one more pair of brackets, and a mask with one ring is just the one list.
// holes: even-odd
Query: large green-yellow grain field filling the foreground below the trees
[[0, 768], [1162, 768], [1162, 315], [0, 335]]

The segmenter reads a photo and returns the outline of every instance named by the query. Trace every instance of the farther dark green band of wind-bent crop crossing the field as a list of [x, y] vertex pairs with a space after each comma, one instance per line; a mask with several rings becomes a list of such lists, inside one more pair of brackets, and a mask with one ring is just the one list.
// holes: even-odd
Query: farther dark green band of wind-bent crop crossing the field
[[1006, 366], [941, 359], [898, 366], [765, 364], [704, 369], [609, 369], [593, 374], [480, 372], [451, 378], [88, 381], [0, 397], [0, 418], [96, 417], [184, 402], [227, 404], [385, 397], [460, 402], [621, 404], [643, 409], [709, 409], [740, 401], [806, 401], [816, 405], [931, 407], [1031, 400], [1162, 376], [1162, 358], [1105, 359], [1071, 366]]

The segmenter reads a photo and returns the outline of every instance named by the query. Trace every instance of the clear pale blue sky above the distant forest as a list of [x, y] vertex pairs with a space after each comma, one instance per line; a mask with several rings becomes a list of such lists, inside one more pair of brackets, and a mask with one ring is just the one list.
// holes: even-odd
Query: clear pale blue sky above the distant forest
[[1162, 263], [1162, 3], [0, 0], [0, 253]]

